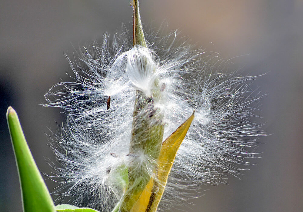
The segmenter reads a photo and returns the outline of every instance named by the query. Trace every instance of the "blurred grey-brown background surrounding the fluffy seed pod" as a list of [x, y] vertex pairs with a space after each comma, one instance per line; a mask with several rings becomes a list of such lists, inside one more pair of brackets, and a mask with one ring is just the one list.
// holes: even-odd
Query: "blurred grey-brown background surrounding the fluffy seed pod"
[[[12, 106], [42, 173], [55, 162], [50, 130], [64, 122], [56, 108], [42, 108], [55, 83], [69, 81], [65, 58], [74, 48], [131, 29], [129, 0], [1, 0], [0, 4], [0, 211], [22, 211], [17, 169], [5, 113]], [[303, 211], [303, 1], [302, 0], [141, 0], [142, 22], [181, 30], [191, 43], [233, 58], [243, 75], [261, 75], [253, 88], [261, 99], [265, 131], [258, 163], [228, 177], [228, 184], [205, 185], [192, 204], [166, 211]], [[149, 27], [148, 27], [149, 28]], [[244, 167], [247, 168], [247, 167]], [[45, 177], [51, 192], [58, 185]]]

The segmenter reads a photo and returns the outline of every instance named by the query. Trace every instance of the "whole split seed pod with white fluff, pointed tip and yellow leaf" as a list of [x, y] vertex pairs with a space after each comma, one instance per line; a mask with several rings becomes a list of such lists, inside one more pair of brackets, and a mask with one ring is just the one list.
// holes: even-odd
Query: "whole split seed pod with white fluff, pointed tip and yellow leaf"
[[220, 183], [263, 135], [250, 120], [254, 77], [216, 72], [220, 59], [176, 45], [176, 32], [146, 42], [133, 7], [133, 40], [105, 35], [80, 56], [87, 68], [69, 61], [77, 82], [45, 95], [66, 113], [55, 150], [63, 185], [102, 211], [154, 212], [161, 198], [184, 198], [175, 189]]

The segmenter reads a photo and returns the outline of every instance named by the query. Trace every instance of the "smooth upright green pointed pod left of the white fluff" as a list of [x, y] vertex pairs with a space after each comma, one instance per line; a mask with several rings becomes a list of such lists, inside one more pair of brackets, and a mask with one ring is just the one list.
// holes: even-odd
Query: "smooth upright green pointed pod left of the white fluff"
[[55, 205], [26, 143], [18, 115], [9, 107], [8, 129], [19, 174], [24, 212], [55, 212]]

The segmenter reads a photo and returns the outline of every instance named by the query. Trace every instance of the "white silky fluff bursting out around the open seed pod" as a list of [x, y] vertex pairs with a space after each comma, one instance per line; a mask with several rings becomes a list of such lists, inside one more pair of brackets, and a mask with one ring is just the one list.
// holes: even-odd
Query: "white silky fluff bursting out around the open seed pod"
[[[144, 48], [127, 42], [126, 33], [111, 42], [105, 35], [100, 47], [94, 43], [84, 48], [78, 63], [68, 60], [74, 82], [58, 83], [45, 95], [45, 106], [65, 110], [65, 125], [54, 138], [62, 163], [58, 177], [65, 194], [76, 196], [78, 204], [110, 211], [123, 198], [117, 173], [134, 162], [129, 149], [136, 91], [152, 98], [161, 90], [153, 103], [165, 126], [164, 139], [196, 110], [162, 205], [167, 199], [188, 197], [177, 190], [225, 182], [224, 173], [236, 174], [237, 164], [254, 157], [249, 149], [253, 151], [255, 139], [263, 135], [261, 125], [251, 121], [260, 98], [249, 88], [255, 77], [220, 73], [228, 63], [192, 50], [186, 41], [178, 45], [176, 38], [176, 32], [163, 39], [149, 36]], [[138, 150], [135, 162], [154, 177], [154, 158]]]

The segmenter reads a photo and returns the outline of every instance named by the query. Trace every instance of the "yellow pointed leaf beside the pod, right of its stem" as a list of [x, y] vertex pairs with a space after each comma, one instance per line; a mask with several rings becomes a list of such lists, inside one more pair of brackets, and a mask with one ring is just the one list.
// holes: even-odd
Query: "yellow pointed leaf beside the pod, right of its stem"
[[131, 212], [155, 212], [163, 195], [168, 174], [175, 161], [177, 151], [194, 119], [194, 113], [181, 124], [175, 132], [168, 136], [162, 143], [157, 161], [157, 181], [150, 179], [140, 197], [133, 205]]

